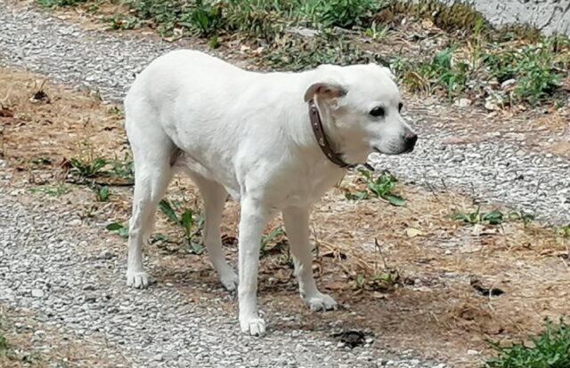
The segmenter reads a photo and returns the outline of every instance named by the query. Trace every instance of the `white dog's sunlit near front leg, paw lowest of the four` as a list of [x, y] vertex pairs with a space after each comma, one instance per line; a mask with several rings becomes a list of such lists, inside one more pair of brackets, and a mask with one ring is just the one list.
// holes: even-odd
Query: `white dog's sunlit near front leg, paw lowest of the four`
[[269, 212], [261, 201], [248, 197], [241, 200], [238, 284], [240, 327], [242, 332], [258, 336], [265, 333], [265, 321], [257, 311], [257, 268], [261, 236], [268, 219]]

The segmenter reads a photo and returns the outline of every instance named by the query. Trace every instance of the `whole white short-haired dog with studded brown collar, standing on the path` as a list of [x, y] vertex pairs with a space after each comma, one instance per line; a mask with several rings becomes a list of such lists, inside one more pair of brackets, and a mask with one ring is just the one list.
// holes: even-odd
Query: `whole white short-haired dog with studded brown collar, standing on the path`
[[[255, 73], [202, 52], [175, 51], [151, 62], [125, 100], [134, 156], [133, 214], [126, 283], [149, 283], [142, 244], [176, 168], [204, 199], [204, 243], [220, 281], [238, 287], [241, 331], [265, 332], [256, 305], [262, 232], [281, 211], [301, 298], [308, 308], [337, 303], [312, 273], [312, 204], [373, 151], [411, 152], [417, 136], [400, 116], [402, 100], [387, 68], [322, 65], [302, 73]], [[240, 201], [239, 277], [224, 260], [224, 202]]]

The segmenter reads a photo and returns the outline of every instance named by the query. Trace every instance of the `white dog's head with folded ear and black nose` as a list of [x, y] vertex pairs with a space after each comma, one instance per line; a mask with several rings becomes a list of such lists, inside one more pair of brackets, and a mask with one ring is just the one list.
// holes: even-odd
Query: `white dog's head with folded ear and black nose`
[[[403, 101], [388, 68], [322, 65], [305, 92], [314, 99], [331, 140], [346, 156], [411, 152], [418, 136], [401, 116]], [[365, 158], [365, 157], [364, 157]]]

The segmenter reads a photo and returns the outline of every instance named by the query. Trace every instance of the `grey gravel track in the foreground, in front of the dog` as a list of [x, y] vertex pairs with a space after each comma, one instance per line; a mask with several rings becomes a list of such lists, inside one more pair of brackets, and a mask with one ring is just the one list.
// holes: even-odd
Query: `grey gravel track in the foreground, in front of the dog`
[[156, 284], [151, 292], [127, 288], [123, 242], [111, 237], [107, 244], [92, 244], [102, 238], [97, 230], [102, 226], [81, 227], [77, 213], [49, 201], [21, 204], [19, 196], [26, 194], [10, 187], [4, 164], [0, 161], [0, 305], [34, 311], [50, 331], [104, 341], [99, 352], [113, 363], [100, 366], [447, 367], [411, 352], [387, 354], [373, 340], [343, 347], [330, 337], [342, 326], [306, 331], [301, 317], [289, 310], [272, 313], [271, 324], [298, 320], [300, 329], [270, 326], [263, 339], [245, 336], [232, 296], [206, 284], [193, 285], [206, 296], [192, 302], [169, 283]]

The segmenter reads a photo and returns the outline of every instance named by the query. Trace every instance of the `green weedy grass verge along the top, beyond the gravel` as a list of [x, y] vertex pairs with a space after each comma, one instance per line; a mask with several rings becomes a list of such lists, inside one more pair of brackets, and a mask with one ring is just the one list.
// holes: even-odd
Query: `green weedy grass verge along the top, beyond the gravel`
[[[38, 1], [50, 6], [80, 3]], [[110, 28], [147, 25], [164, 36], [204, 37], [212, 48], [238, 39], [240, 45], [260, 50], [251, 56], [262, 66], [292, 71], [322, 63], [387, 64], [376, 50], [390, 28], [397, 33], [404, 18], [429, 20], [449, 32], [454, 44], [435, 53], [420, 52], [414, 60], [391, 58], [402, 84], [411, 92], [440, 93], [449, 100], [480, 99], [490, 109], [560, 105], [552, 97], [566, 83], [570, 68], [566, 38], [541, 36], [524, 27], [497, 31], [464, 4], [446, 6], [434, 0], [123, 0], [122, 4], [130, 12], [104, 17]], [[319, 33], [295, 36], [290, 28], [297, 26]], [[509, 83], [503, 85], [505, 81]]]

